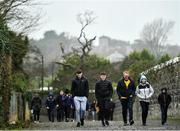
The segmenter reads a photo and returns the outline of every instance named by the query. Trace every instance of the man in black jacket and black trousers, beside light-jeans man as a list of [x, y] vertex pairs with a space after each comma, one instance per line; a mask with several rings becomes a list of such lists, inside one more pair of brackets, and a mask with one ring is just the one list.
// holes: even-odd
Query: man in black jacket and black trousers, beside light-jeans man
[[106, 79], [106, 73], [100, 74], [100, 80], [95, 85], [95, 95], [99, 105], [99, 113], [101, 116], [102, 125], [109, 126], [109, 103], [113, 94], [113, 87], [110, 81]]

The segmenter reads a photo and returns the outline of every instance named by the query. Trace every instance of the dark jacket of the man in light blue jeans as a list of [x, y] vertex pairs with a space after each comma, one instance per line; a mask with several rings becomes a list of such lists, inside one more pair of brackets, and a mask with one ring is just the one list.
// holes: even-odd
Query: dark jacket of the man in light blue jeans
[[87, 79], [83, 76], [81, 79], [76, 77], [72, 80], [71, 85], [71, 94], [72, 96], [86, 96], [89, 94], [89, 84]]

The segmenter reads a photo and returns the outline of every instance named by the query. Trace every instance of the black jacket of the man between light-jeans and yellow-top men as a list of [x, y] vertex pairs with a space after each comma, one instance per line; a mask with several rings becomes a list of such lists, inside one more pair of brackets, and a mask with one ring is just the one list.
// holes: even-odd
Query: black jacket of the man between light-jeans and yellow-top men
[[110, 81], [98, 81], [95, 85], [95, 95], [97, 100], [110, 99], [113, 94], [113, 87]]

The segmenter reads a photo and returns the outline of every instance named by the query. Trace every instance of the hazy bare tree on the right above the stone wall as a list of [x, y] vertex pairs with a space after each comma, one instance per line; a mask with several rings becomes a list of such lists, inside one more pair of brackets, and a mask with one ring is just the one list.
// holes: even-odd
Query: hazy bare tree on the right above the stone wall
[[144, 26], [141, 32], [141, 39], [149, 46], [151, 52], [157, 58], [164, 53], [168, 35], [173, 26], [173, 21], [164, 21], [163, 19], [154, 20]]

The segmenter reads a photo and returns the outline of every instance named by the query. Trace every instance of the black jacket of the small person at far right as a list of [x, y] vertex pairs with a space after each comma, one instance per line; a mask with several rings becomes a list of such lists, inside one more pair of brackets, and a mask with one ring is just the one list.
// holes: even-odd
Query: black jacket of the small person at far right
[[169, 106], [169, 104], [171, 103], [171, 96], [167, 94], [167, 92], [159, 94], [158, 103], [160, 105]]

